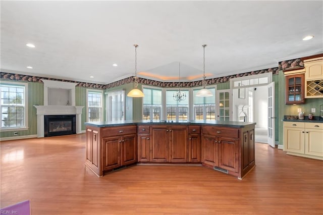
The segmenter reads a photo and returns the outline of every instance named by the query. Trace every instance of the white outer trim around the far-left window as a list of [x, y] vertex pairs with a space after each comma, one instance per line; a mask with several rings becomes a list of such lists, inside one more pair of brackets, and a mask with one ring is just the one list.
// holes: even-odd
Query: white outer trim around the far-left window
[[[24, 92], [24, 101], [25, 101], [25, 105], [24, 105], [24, 122], [25, 122], [25, 126], [24, 127], [16, 127], [16, 128], [1, 128], [0, 127], [0, 131], [25, 131], [28, 130], [28, 83], [23, 83], [23, 82], [11, 82], [11, 81], [1, 81], [1, 84], [4, 85], [11, 85], [11, 86], [24, 86], [25, 87], [25, 92]], [[1, 104], [0, 104], [1, 106]], [[1, 111], [1, 109], [0, 109]]]

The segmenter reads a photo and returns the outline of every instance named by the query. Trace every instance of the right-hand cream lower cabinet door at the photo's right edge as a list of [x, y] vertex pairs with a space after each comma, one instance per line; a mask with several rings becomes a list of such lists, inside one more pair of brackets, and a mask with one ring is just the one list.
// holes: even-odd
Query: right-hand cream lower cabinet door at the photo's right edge
[[323, 157], [323, 130], [306, 129], [305, 154]]

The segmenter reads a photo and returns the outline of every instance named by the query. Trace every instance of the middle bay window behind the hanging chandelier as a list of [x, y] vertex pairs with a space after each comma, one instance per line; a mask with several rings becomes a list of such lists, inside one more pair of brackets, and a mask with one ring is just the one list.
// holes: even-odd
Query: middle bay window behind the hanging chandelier
[[167, 120], [188, 120], [188, 90], [181, 90], [181, 92], [186, 93], [186, 98], [184, 101], [175, 101], [174, 93], [177, 90], [167, 90], [166, 91], [166, 110], [167, 110]]

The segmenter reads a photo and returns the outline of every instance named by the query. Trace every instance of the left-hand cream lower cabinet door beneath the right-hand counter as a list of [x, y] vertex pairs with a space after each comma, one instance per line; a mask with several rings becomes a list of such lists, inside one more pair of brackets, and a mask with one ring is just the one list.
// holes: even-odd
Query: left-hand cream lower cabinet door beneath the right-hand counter
[[305, 152], [304, 128], [284, 128], [284, 150], [296, 153]]

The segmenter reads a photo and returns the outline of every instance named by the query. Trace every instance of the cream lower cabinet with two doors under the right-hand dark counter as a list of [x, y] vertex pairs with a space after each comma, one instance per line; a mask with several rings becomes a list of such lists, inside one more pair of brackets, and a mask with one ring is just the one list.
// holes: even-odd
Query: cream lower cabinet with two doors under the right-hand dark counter
[[284, 122], [287, 154], [323, 160], [323, 123]]

